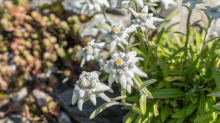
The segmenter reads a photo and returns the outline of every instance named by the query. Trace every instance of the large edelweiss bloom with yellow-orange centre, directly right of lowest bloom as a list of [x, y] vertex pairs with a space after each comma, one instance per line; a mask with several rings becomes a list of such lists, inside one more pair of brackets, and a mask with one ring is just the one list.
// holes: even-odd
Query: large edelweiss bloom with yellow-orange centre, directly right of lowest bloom
[[109, 86], [111, 86], [114, 81], [116, 81], [116, 83], [120, 82], [121, 86], [131, 93], [131, 86], [133, 86], [132, 78], [134, 78], [134, 74], [141, 77], [147, 77], [147, 74], [136, 66], [139, 60], [144, 59], [136, 57], [136, 55], [136, 51], [129, 52], [128, 54], [123, 52], [120, 54], [115, 53], [112, 59], [106, 62], [104, 70], [110, 73], [108, 78]]

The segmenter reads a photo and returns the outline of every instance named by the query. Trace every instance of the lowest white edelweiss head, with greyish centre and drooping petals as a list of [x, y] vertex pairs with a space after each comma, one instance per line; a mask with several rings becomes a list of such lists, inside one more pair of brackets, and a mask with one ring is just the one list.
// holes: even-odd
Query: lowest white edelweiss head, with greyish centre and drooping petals
[[107, 102], [111, 102], [111, 99], [104, 94], [104, 91], [113, 92], [112, 89], [99, 81], [100, 72], [85, 72], [80, 75], [79, 80], [76, 81], [75, 89], [73, 91], [72, 105], [78, 99], [78, 108], [82, 111], [83, 103], [87, 100], [96, 105], [96, 97], [101, 97]]

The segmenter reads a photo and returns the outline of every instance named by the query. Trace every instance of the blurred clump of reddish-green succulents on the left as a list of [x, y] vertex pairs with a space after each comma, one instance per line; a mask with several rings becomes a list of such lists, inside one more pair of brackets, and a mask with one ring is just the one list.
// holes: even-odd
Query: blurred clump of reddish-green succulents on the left
[[[84, 45], [77, 35], [86, 18], [74, 15], [61, 20], [55, 14], [44, 16], [28, 6], [28, 1], [25, 6], [11, 1], [4, 1], [0, 6], [0, 95], [3, 99], [13, 98], [8, 95], [23, 87], [29, 92], [37, 89], [54, 94], [61, 81], [75, 81], [81, 72], [81, 58], [75, 55]], [[52, 97], [45, 99], [49, 109], [38, 107], [33, 99], [29, 93], [28, 98], [19, 100], [24, 106], [24, 116], [31, 120], [42, 120], [38, 117], [42, 112], [48, 120], [53, 120], [53, 115], [59, 116], [59, 106]], [[14, 106], [14, 101], [1, 117], [19, 108]]]

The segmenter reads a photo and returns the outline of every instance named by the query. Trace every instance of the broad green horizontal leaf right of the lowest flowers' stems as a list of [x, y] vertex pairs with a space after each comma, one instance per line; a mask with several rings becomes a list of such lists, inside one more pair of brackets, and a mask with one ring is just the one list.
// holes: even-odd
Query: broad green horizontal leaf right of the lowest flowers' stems
[[185, 92], [173, 88], [160, 89], [152, 93], [154, 98], [162, 98], [162, 99], [178, 98], [178, 97], [182, 97], [184, 94]]

